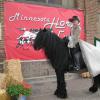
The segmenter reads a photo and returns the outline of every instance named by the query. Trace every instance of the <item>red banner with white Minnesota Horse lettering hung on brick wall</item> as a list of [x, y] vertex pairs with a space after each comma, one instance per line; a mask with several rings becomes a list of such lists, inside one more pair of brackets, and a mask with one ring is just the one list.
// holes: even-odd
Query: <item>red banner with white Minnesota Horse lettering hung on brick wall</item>
[[32, 30], [44, 27], [52, 28], [58, 36], [63, 38], [70, 33], [68, 19], [72, 18], [72, 16], [78, 16], [80, 18], [80, 37], [84, 38], [83, 11], [5, 2], [4, 28], [6, 59], [45, 59], [43, 50], [35, 51], [31, 45]]

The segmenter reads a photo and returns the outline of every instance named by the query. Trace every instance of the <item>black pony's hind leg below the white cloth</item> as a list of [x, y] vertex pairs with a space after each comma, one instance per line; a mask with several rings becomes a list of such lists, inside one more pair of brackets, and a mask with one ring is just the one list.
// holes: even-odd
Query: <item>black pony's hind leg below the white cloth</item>
[[93, 77], [93, 85], [89, 88], [89, 91], [95, 93], [100, 87], [100, 75]]

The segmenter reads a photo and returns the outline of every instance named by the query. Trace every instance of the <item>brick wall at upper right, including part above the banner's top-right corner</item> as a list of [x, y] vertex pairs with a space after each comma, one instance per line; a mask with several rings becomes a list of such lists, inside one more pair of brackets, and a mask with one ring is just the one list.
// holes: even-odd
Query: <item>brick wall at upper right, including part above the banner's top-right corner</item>
[[97, 15], [100, 14], [100, 0], [76, 0], [76, 4], [78, 9], [83, 9], [84, 11], [86, 40], [93, 44], [94, 37], [100, 38], [100, 32], [97, 32]]

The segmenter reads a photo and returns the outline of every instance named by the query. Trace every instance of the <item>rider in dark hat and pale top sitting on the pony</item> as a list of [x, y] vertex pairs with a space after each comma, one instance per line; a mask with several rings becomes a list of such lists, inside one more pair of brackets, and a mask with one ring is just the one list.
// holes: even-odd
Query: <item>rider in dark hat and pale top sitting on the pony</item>
[[70, 36], [68, 37], [68, 47], [70, 48], [70, 53], [72, 55], [73, 61], [74, 61], [74, 69], [80, 70], [80, 58], [78, 51], [80, 49], [79, 47], [79, 39], [80, 39], [80, 20], [78, 16], [73, 16], [69, 19], [69, 22], [72, 23], [72, 27], [70, 30]]

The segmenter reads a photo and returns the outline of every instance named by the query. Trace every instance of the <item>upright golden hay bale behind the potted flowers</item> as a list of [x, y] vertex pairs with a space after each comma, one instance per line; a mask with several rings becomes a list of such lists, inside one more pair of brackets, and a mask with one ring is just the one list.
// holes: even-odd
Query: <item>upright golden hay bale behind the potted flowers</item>
[[20, 60], [6, 60], [4, 63], [4, 73], [14, 80], [23, 81]]

